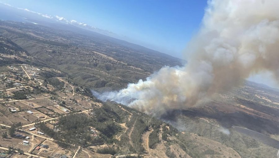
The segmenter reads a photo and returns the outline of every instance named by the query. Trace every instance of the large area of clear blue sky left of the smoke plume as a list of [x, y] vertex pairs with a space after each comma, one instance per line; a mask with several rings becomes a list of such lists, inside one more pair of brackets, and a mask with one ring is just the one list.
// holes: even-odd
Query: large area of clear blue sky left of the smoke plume
[[0, 0], [14, 7], [77, 20], [129, 42], [182, 58], [199, 29], [207, 0]]

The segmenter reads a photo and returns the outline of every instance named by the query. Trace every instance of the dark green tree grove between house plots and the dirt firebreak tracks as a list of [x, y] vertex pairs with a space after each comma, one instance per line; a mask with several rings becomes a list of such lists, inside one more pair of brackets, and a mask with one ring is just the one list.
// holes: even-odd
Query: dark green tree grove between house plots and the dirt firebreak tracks
[[[113, 135], [120, 131], [121, 128], [115, 125], [112, 119], [108, 119], [110, 115], [105, 112], [105, 109], [98, 109], [100, 113], [96, 112], [96, 118], [89, 117], [85, 114], [61, 116], [58, 125], [56, 125], [57, 129], [59, 129], [58, 132], [50, 129], [44, 123], [36, 124], [36, 126], [56, 141], [66, 144], [86, 146], [90, 143], [113, 143]], [[100, 116], [100, 119], [97, 119], [98, 116]], [[101, 134], [99, 134], [100, 137], [91, 136], [91, 127], [101, 132]]]

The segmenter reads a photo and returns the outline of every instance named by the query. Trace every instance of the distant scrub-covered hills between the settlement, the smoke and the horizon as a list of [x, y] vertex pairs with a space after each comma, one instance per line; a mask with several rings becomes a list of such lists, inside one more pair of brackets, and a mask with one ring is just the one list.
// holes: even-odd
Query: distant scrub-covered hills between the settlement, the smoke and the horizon
[[120, 89], [162, 66], [180, 65], [180, 59], [144, 47], [127, 47], [127, 42], [41, 25], [1, 21], [0, 35], [94, 89]]

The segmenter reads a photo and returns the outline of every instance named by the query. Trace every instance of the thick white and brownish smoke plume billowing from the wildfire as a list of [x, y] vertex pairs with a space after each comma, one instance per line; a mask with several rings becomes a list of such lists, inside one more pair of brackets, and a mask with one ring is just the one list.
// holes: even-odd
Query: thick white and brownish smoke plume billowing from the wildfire
[[187, 65], [163, 67], [100, 99], [160, 114], [197, 105], [260, 71], [279, 79], [278, 6], [278, 0], [208, 1], [201, 29], [187, 47]]

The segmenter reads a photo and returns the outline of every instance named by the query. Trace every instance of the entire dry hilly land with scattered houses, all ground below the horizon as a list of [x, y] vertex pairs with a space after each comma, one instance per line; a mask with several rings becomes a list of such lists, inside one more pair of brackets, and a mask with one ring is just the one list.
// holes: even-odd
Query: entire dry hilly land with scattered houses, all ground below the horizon
[[121, 89], [179, 59], [11, 21], [0, 21], [0, 41], [0, 152], [7, 155], [276, 157], [276, 89], [247, 81], [201, 106], [154, 118], [100, 101], [91, 90]]

